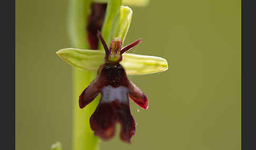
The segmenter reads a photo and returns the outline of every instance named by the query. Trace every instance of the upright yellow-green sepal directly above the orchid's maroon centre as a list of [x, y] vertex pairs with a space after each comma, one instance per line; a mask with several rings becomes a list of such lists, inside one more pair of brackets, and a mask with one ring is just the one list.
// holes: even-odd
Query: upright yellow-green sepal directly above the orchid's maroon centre
[[116, 13], [111, 30], [110, 30], [110, 41], [115, 37], [121, 37], [124, 43], [124, 39], [129, 30], [131, 20], [132, 20], [132, 9], [127, 6], [121, 6], [119, 12]]

